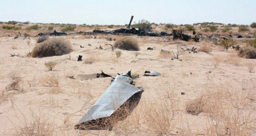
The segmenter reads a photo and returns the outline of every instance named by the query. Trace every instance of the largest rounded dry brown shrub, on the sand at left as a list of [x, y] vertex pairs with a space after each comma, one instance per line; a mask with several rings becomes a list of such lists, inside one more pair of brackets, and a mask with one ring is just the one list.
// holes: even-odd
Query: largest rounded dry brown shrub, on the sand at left
[[42, 57], [50, 55], [63, 55], [72, 52], [74, 49], [69, 41], [63, 38], [48, 39], [33, 48], [32, 57]]

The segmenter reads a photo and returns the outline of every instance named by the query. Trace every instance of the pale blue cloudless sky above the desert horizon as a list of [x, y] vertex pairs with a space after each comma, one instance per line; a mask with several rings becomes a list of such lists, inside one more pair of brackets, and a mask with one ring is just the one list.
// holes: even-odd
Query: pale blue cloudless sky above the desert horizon
[[1, 0], [0, 21], [32, 23], [193, 24], [256, 22], [256, 0]]

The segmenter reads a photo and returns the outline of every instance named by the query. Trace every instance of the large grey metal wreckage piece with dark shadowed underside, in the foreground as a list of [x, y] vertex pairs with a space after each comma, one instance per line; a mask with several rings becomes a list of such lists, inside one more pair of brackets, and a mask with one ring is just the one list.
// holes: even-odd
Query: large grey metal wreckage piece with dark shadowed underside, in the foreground
[[80, 130], [111, 131], [117, 121], [124, 120], [139, 103], [142, 88], [135, 87], [131, 71], [116, 75], [96, 103], [74, 126]]

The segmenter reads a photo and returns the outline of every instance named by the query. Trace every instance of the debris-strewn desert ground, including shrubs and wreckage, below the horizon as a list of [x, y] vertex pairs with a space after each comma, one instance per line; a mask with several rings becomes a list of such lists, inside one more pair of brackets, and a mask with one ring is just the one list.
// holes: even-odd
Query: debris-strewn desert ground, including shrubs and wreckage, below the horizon
[[0, 135], [256, 132], [256, 28], [0, 25]]

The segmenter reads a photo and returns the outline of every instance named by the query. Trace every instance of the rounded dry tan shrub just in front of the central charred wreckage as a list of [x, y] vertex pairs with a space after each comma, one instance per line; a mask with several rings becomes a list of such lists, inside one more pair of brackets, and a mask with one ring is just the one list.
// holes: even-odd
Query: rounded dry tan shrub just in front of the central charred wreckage
[[137, 39], [129, 36], [117, 39], [114, 43], [114, 47], [132, 51], [139, 50]]

